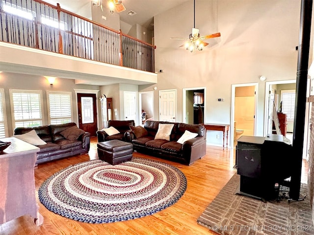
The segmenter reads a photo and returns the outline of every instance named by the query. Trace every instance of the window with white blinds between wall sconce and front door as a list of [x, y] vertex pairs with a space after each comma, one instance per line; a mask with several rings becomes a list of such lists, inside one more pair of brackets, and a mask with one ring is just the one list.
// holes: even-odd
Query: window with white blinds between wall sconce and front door
[[50, 124], [72, 122], [71, 97], [71, 92], [47, 92], [48, 118]]

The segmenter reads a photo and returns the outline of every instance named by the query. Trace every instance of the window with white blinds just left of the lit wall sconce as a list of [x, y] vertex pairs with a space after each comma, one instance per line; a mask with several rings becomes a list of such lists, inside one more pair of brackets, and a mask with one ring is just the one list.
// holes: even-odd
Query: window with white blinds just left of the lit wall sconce
[[10, 89], [13, 129], [43, 125], [41, 91]]

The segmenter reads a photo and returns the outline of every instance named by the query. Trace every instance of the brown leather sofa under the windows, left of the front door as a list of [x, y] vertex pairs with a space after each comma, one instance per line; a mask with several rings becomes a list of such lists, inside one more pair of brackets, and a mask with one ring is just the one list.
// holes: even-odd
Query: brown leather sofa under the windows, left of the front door
[[14, 135], [22, 135], [35, 130], [39, 138], [47, 142], [47, 144], [37, 145], [40, 151], [37, 152], [36, 164], [40, 164], [88, 153], [90, 148], [90, 133], [85, 132], [77, 140], [67, 140], [60, 134], [63, 130], [76, 125], [75, 122], [70, 122], [37, 127], [17, 127], [14, 129]]

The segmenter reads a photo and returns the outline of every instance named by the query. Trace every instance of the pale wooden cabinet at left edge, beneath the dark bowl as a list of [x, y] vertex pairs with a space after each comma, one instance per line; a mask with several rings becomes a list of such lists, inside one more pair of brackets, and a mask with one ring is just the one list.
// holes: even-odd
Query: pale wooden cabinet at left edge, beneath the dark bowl
[[44, 221], [35, 197], [34, 166], [39, 148], [17, 138], [3, 138], [11, 145], [0, 153], [0, 224], [23, 215]]

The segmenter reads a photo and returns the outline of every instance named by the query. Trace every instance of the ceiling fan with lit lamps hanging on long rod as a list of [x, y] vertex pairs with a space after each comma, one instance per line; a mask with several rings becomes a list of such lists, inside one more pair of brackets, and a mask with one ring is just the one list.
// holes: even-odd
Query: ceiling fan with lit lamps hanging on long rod
[[192, 33], [190, 33], [189, 38], [170, 38], [170, 39], [187, 40], [186, 43], [184, 43], [180, 47], [185, 46], [187, 50], [193, 52], [193, 50], [195, 51], [195, 49], [202, 50], [203, 47], [209, 45], [203, 40], [220, 37], [220, 33], [213, 33], [209, 35], [200, 36], [199, 32], [200, 30], [198, 28], [195, 28], [195, 0], [194, 0], [194, 27], [192, 28]]

